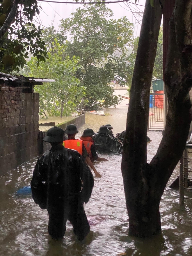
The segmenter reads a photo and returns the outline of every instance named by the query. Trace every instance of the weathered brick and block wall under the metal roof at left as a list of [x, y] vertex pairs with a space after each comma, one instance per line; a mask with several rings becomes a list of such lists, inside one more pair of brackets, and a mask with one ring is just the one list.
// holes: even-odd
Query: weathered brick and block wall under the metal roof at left
[[38, 150], [39, 94], [0, 85], [0, 175]]

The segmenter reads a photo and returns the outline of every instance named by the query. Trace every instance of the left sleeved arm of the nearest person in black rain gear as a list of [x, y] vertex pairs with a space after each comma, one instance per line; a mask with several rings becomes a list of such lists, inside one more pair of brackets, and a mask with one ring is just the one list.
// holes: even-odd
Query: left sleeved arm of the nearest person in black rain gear
[[45, 184], [42, 178], [42, 168], [42, 163], [40, 159], [38, 159], [31, 180], [31, 191], [35, 203], [38, 204], [41, 209], [46, 209], [47, 184]]

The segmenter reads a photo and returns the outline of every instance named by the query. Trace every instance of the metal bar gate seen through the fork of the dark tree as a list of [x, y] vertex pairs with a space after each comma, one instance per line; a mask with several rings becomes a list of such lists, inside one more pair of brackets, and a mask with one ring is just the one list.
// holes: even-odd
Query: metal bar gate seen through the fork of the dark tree
[[164, 94], [150, 93], [149, 104], [149, 131], [162, 131], [164, 129]]

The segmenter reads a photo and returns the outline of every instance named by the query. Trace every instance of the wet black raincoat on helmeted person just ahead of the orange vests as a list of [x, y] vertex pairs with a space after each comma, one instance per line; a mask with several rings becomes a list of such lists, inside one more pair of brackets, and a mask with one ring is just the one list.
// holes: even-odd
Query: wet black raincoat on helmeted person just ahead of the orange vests
[[112, 138], [107, 133], [103, 134], [97, 132], [95, 135], [93, 135], [93, 141], [95, 149], [99, 153], [122, 154], [122, 144], [117, 139]]

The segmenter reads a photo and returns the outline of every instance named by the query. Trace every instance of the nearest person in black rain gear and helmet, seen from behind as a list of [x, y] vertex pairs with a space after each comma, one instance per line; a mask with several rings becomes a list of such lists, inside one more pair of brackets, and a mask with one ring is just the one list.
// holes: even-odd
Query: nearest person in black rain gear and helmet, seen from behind
[[94, 180], [81, 155], [62, 145], [63, 135], [59, 127], [47, 131], [44, 141], [52, 147], [36, 163], [31, 190], [35, 203], [49, 213], [51, 237], [63, 238], [68, 219], [77, 239], [82, 241], [90, 231], [83, 203], [90, 199]]

